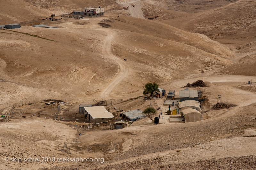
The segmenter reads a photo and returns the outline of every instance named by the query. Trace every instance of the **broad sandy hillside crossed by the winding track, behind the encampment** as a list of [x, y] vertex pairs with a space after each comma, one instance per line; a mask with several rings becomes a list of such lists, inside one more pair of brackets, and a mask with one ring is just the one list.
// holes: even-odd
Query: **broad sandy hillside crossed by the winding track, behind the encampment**
[[[110, 28], [100, 26], [100, 22]], [[0, 46], [3, 47], [1, 84], [5, 96], [1, 99], [2, 104], [24, 98], [61, 97], [65, 98], [62, 100], [81, 101], [84, 96], [94, 98], [106, 87], [111, 87], [105, 89], [109, 94], [115, 87], [110, 84], [114, 80], [118, 80], [115, 82], [116, 95], [126, 96], [137, 92], [149, 80], [169, 81], [190, 71], [227, 65], [229, 58], [234, 57], [227, 48], [206, 36], [165, 24], [157, 29], [154, 21], [133, 20], [132, 17], [79, 21], [65, 18], [41, 23], [60, 28], [23, 26], [0, 31]], [[33, 25], [33, 22], [28, 24]], [[113, 40], [108, 39], [109, 36]], [[128, 61], [124, 63], [125, 57]], [[17, 89], [19, 93], [15, 92]]]

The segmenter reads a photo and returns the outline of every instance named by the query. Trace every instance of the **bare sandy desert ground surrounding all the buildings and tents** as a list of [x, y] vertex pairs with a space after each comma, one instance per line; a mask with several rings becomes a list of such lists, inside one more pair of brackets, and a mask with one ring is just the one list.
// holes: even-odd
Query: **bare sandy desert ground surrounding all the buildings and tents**
[[[7, 14], [0, 17], [4, 22], [24, 21], [20, 29], [0, 30], [0, 111], [8, 114], [15, 110], [11, 121], [0, 122], [0, 169], [255, 169], [256, 93], [247, 84], [256, 79], [255, 38], [253, 24], [249, 24], [253, 17], [248, 17], [255, 10], [244, 14], [255, 3], [247, 7], [248, 2], [216, 1], [198, 9], [198, 13], [191, 1], [182, 5], [175, 2], [168, 8], [182, 11], [189, 6], [175, 13], [164, 11], [153, 1], [104, 1], [106, 10], [115, 9], [113, 13], [53, 22], [42, 18], [52, 12], [70, 12], [81, 1], [20, 1], [18, 4], [26, 10], [37, 11], [37, 18], [24, 17], [26, 10], [20, 12], [20, 18]], [[55, 10], [54, 5], [58, 6]], [[2, 13], [7, 13], [10, 6], [19, 9], [15, 2], [4, 2], [3, 6], [6, 8]], [[238, 16], [238, 25], [231, 23], [232, 16], [228, 16], [230, 21], [223, 17], [229, 10], [243, 14]], [[128, 16], [117, 17], [120, 13]], [[216, 21], [214, 26], [205, 19], [209, 16]], [[157, 22], [157, 18], [172, 19]], [[59, 28], [30, 26], [36, 24]], [[235, 39], [234, 44], [230, 39]], [[58, 113], [63, 117], [76, 116], [80, 103], [94, 104], [101, 99], [116, 114], [115, 120], [121, 119], [119, 110], [144, 110], [149, 103], [160, 108], [158, 116], [168, 106], [163, 105], [164, 98], [143, 98], [146, 82], [157, 81], [167, 92], [175, 89], [178, 96], [183, 86], [196, 80], [203, 80], [207, 86], [191, 88], [201, 90], [206, 98], [202, 103], [204, 120], [194, 123], [170, 123], [169, 115], [164, 114], [159, 124], [143, 118], [124, 129], [110, 130], [108, 125], [91, 129], [83, 121], [52, 120], [57, 116], [56, 106], [45, 107], [43, 101], [68, 102]], [[237, 106], [212, 110], [217, 102]], [[26, 104], [18, 106], [20, 103]], [[15, 108], [11, 111], [12, 106]], [[64, 152], [66, 137], [68, 149]], [[5, 157], [29, 156], [104, 158], [104, 163], [2, 161]]]

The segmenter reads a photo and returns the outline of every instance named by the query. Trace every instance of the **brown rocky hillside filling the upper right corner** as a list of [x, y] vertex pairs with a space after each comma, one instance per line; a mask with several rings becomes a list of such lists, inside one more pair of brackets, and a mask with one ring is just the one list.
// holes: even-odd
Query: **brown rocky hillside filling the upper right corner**
[[255, 41], [255, 1], [240, 0], [191, 16], [163, 21], [190, 32], [205, 34], [236, 46]]

